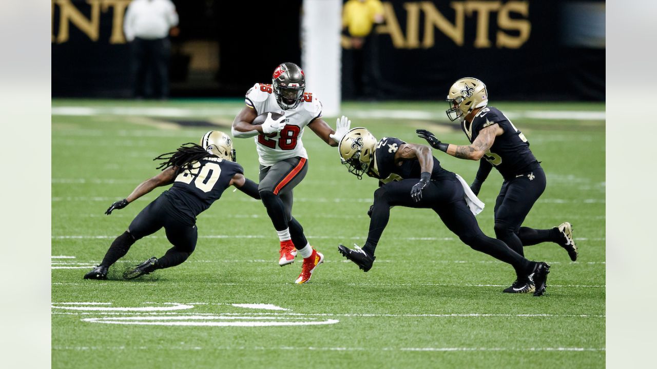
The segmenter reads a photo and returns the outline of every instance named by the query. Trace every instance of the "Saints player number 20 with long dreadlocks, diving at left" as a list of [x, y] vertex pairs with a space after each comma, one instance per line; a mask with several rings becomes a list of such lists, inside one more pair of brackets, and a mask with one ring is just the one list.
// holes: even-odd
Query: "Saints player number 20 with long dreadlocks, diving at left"
[[173, 245], [164, 256], [151, 257], [134, 269], [126, 271], [124, 278], [137, 278], [156, 269], [175, 267], [183, 263], [196, 248], [196, 216], [219, 200], [228, 186], [260, 199], [258, 185], [244, 177], [244, 169], [235, 163], [235, 150], [231, 138], [219, 131], [206, 133], [200, 144], [184, 144], [175, 152], [162, 154], [155, 160], [166, 160], [158, 169], [162, 173], [137, 186], [124, 200], [115, 202], [105, 212], [123, 209], [158, 186], [173, 186], [148, 204], [121, 236], [118, 236], [102, 259], [101, 265], [85, 274], [85, 279], [107, 279], [108, 268], [124, 257], [137, 240], [164, 227], [166, 237]]

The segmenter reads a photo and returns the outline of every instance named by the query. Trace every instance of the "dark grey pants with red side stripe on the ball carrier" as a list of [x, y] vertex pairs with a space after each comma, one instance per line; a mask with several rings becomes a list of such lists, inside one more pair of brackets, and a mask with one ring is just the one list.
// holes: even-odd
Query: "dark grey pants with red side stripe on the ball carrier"
[[290, 228], [292, 243], [297, 249], [304, 248], [308, 241], [304, 228], [292, 217], [292, 189], [301, 183], [306, 173], [307, 159], [299, 156], [281, 160], [271, 167], [260, 165], [258, 192], [267, 215], [276, 230]]

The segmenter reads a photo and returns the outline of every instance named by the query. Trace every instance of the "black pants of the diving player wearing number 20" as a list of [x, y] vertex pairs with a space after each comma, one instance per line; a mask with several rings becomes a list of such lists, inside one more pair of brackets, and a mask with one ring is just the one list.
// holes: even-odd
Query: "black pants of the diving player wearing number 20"
[[175, 218], [171, 215], [171, 211], [172, 206], [169, 200], [162, 196], [148, 204], [133, 219], [128, 230], [112, 242], [112, 246], [102, 259], [101, 265], [110, 267], [118, 259], [124, 257], [130, 246], [137, 240], [153, 234], [161, 228], [164, 228], [166, 238], [173, 247], [158, 259], [156, 267], [158, 269], [175, 267], [187, 260], [196, 248], [198, 228], [196, 228], [196, 225], [190, 225]]

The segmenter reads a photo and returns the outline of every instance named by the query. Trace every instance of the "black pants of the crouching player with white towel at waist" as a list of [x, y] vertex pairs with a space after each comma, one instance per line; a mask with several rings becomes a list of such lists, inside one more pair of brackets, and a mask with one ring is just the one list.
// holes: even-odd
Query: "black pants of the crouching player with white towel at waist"
[[429, 208], [436, 211], [445, 226], [470, 248], [512, 265], [520, 276], [531, 272], [531, 261], [511, 250], [504, 242], [490, 238], [482, 232], [474, 214], [466, 205], [463, 187], [456, 177], [430, 181], [422, 191], [422, 200], [415, 202], [411, 198], [411, 188], [418, 181], [404, 179], [388, 183], [374, 191], [374, 208], [363, 250], [374, 253], [374, 248], [388, 225], [391, 206]]

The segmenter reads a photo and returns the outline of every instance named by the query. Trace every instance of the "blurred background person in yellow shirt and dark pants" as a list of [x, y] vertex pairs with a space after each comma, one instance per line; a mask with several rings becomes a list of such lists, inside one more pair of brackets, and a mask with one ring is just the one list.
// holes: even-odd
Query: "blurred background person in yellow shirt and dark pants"
[[355, 97], [370, 95], [368, 83], [371, 76], [373, 26], [383, 23], [383, 4], [380, 0], [348, 0], [342, 8], [342, 28], [350, 37], [346, 47], [353, 55], [351, 74], [355, 87]]

